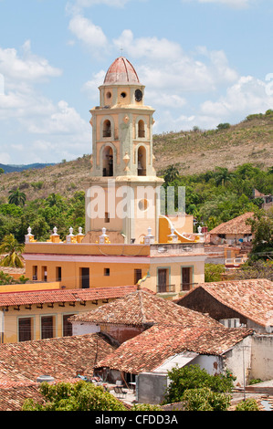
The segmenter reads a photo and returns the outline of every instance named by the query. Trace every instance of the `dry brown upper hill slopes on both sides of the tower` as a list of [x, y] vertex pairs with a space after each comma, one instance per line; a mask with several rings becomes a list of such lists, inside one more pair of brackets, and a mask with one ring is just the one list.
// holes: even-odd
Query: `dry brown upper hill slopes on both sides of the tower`
[[[245, 162], [266, 170], [273, 159], [273, 110], [264, 115], [250, 115], [224, 129], [154, 135], [153, 152], [159, 175], [171, 164], [184, 175], [205, 173], [216, 166], [234, 170]], [[4, 203], [8, 192], [17, 187], [29, 201], [46, 198], [51, 193], [72, 196], [84, 189], [89, 173], [90, 155], [83, 155], [41, 169], [1, 174], [0, 198]]]

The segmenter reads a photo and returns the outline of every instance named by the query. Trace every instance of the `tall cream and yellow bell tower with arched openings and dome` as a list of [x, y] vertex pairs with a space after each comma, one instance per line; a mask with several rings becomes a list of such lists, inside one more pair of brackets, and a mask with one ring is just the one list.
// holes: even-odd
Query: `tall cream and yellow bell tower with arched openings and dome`
[[144, 105], [144, 89], [130, 61], [117, 58], [99, 88], [100, 106], [90, 110], [86, 233], [105, 227], [111, 242], [140, 243], [148, 227], [158, 235], [163, 180], [152, 165], [154, 110]]

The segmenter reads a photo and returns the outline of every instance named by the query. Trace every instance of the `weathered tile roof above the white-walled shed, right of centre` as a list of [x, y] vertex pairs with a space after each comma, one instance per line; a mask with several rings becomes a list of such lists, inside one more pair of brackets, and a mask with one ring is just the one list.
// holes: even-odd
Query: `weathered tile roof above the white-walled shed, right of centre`
[[205, 325], [185, 328], [180, 325], [154, 325], [123, 342], [119, 349], [99, 361], [96, 367], [134, 374], [154, 371], [164, 361], [184, 351], [221, 355], [252, 333], [252, 330], [230, 330], [219, 324], [214, 328]]

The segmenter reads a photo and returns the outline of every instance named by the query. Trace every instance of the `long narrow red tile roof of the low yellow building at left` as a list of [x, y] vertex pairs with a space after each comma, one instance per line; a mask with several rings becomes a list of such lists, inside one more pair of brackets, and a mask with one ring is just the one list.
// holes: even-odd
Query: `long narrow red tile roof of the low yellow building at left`
[[90, 301], [94, 299], [120, 298], [136, 290], [136, 286], [113, 288], [56, 289], [26, 292], [0, 292], [0, 306], [18, 306], [52, 302]]

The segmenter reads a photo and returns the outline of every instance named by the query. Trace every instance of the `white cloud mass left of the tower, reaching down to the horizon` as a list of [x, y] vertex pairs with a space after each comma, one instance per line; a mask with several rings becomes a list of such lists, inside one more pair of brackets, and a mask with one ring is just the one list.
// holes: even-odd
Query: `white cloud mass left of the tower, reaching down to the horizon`
[[0, 162], [58, 162], [90, 151], [89, 123], [67, 101], [55, 103], [37, 89], [37, 83], [59, 77], [61, 71], [45, 58], [33, 55], [30, 42], [24, 44], [20, 54], [14, 48], [0, 48], [1, 73]]

